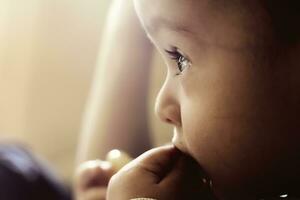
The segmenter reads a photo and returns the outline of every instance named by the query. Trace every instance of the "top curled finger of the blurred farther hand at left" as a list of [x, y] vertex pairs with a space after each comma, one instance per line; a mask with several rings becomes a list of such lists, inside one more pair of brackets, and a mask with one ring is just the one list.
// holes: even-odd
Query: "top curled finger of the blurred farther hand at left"
[[81, 164], [75, 175], [75, 188], [82, 191], [90, 187], [107, 186], [113, 174], [110, 163], [93, 160]]

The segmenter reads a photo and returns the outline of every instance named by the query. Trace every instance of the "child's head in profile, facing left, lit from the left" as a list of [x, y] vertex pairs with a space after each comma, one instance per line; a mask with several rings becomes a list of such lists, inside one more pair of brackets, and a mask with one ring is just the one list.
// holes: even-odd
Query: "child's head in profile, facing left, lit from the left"
[[168, 67], [156, 111], [220, 195], [267, 193], [300, 178], [294, 2], [135, 1]]

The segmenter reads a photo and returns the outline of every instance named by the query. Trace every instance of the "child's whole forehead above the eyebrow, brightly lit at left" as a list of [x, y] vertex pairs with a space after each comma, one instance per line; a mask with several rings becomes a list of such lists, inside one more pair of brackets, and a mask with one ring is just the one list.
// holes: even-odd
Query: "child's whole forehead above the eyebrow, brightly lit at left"
[[194, 33], [201, 43], [233, 49], [265, 40], [263, 12], [256, 0], [135, 0], [135, 7], [152, 38], [172, 29]]

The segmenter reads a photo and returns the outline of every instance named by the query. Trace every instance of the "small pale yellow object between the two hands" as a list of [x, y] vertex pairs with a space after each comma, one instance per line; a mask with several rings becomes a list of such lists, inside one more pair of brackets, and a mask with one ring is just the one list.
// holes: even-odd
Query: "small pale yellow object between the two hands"
[[114, 149], [106, 155], [106, 161], [110, 162], [114, 171], [119, 171], [124, 165], [129, 163], [132, 158], [125, 152]]

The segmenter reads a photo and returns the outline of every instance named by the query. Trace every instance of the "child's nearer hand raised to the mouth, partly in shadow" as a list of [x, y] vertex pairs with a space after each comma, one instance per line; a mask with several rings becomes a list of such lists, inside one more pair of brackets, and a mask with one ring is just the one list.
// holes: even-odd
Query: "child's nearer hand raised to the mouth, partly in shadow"
[[200, 166], [174, 146], [155, 148], [111, 178], [107, 199], [213, 199], [202, 182], [202, 174]]

